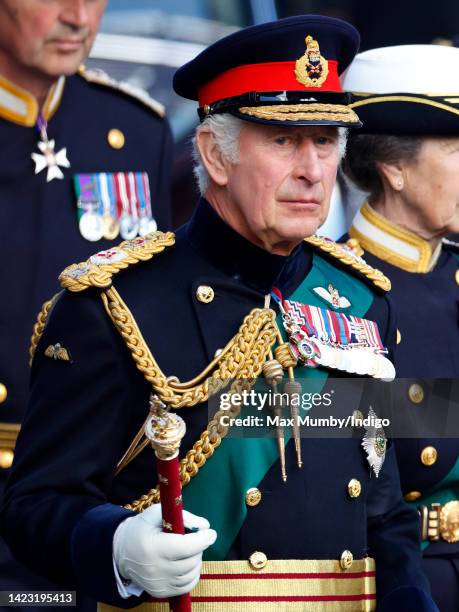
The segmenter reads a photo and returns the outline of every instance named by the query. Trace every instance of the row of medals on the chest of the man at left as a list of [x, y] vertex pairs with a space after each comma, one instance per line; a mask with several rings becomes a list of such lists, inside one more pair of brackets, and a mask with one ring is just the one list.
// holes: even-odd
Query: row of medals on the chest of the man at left
[[156, 231], [146, 172], [76, 174], [78, 226], [86, 240], [123, 240]]

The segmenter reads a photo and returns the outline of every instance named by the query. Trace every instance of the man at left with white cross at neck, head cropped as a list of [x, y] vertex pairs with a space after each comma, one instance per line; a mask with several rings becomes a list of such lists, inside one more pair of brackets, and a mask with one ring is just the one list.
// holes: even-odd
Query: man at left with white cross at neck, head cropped
[[[74, 75], [105, 4], [0, 2], [0, 242], [8, 253], [0, 271], [1, 488], [26, 404], [32, 326], [58, 290], [59, 270], [87, 257], [92, 241], [119, 241], [126, 207], [122, 233], [133, 215], [139, 223], [131, 233], [143, 231], [144, 211], [147, 225], [154, 218], [169, 227], [164, 109], [103, 74]], [[123, 207], [117, 189], [130, 193], [133, 181], [136, 198], [124, 198]], [[12, 563], [0, 554], [1, 589], [38, 585]]]

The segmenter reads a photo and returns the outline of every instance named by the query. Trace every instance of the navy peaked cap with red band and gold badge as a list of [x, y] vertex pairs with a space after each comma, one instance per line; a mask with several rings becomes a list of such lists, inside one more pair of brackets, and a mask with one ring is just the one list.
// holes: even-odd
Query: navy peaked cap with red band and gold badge
[[198, 114], [247, 121], [360, 127], [339, 75], [358, 51], [357, 30], [339, 19], [301, 15], [245, 28], [217, 41], [174, 76]]

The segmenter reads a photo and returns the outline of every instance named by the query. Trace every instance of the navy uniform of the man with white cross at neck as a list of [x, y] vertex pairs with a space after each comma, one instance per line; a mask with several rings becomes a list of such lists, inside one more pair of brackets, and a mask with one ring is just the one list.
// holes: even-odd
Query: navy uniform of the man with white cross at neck
[[[0, 87], [3, 88], [3, 81]], [[28, 103], [32, 104], [32, 97], [27, 96]], [[95, 248], [79, 232], [73, 177], [83, 172], [147, 172], [158, 225], [168, 228], [170, 222], [171, 135], [159, 104], [89, 82], [82, 75], [67, 78], [47, 131], [49, 138], [55, 140], [56, 151], [66, 147], [71, 167], [62, 168], [63, 180], [49, 183], [46, 170], [34, 174], [31, 153], [38, 152], [39, 134], [30, 125], [34, 122], [31, 112], [29, 116], [19, 115], [14, 121], [9, 112], [3, 106], [2, 97], [0, 241], [5, 253], [0, 271], [2, 483], [27, 402], [28, 348], [36, 313], [59, 289], [56, 282], [59, 271], [71, 261], [88, 257]], [[109, 142], [109, 133], [113, 130], [118, 135], [116, 148], [112, 146], [113, 141]], [[100, 240], [97, 244], [103, 248], [113, 241]], [[0, 565], [2, 589], [21, 584], [37, 586], [30, 576], [21, 578], [10, 561], [0, 561]]]

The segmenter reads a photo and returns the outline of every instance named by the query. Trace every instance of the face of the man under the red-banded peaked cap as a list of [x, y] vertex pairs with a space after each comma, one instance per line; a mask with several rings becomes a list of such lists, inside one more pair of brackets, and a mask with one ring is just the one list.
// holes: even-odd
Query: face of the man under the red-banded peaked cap
[[337, 128], [246, 122], [220, 214], [255, 244], [289, 253], [325, 221], [338, 163]]

